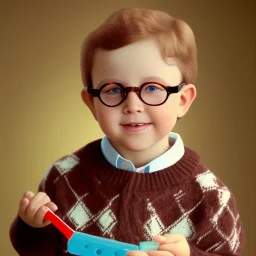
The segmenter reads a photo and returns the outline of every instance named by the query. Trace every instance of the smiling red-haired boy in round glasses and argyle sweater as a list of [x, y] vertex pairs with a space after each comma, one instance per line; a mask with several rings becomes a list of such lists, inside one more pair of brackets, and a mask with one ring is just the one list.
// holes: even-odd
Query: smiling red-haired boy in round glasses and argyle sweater
[[[233, 195], [172, 133], [196, 97], [189, 26], [147, 9], [114, 12], [85, 40], [81, 96], [106, 136], [61, 158], [26, 192], [10, 237], [20, 255], [69, 255], [43, 220], [158, 251], [129, 256], [242, 255]], [[170, 133], [171, 132], [171, 133]]]

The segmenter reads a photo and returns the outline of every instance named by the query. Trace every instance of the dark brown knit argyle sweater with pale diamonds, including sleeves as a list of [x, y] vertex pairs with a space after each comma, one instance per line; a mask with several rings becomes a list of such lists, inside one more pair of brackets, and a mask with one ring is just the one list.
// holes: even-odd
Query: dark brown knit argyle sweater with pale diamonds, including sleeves
[[[176, 164], [136, 173], [109, 164], [97, 140], [56, 161], [39, 190], [79, 232], [137, 245], [158, 234], [183, 234], [191, 256], [242, 255], [233, 195], [187, 147]], [[51, 224], [33, 228], [17, 216], [10, 239], [21, 256], [70, 255], [66, 238]]]

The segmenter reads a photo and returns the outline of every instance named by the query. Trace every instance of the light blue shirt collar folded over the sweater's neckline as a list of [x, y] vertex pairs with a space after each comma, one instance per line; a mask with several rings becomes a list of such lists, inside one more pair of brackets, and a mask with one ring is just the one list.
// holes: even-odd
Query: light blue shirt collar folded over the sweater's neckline
[[157, 157], [145, 166], [136, 168], [131, 161], [123, 158], [111, 145], [107, 136], [101, 140], [101, 150], [106, 160], [114, 167], [122, 170], [149, 173], [162, 170], [178, 162], [184, 155], [185, 149], [183, 141], [178, 133], [171, 132], [169, 141], [174, 140], [171, 148], [161, 156]]

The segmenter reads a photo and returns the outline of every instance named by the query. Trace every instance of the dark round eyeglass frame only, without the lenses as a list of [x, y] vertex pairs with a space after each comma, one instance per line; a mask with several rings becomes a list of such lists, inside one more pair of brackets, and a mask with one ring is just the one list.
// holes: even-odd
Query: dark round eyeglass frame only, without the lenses
[[[122, 99], [118, 104], [113, 105], [113, 106], [110, 106], [110, 105], [106, 104], [106, 103], [101, 99], [101, 97], [100, 97], [100, 92], [102, 91], [102, 89], [104, 89], [104, 87], [106, 87], [106, 86], [109, 85], [109, 84], [115, 84], [115, 85], [119, 86], [119, 87], [122, 89], [122, 93], [123, 93], [123, 99]], [[140, 96], [141, 90], [143, 89], [143, 87], [145, 87], [146, 85], [149, 85], [149, 84], [157, 84], [157, 85], [160, 85], [161, 87], [163, 87], [163, 88], [166, 90], [166, 92], [167, 92], [166, 99], [165, 99], [162, 103], [160, 103], [160, 104], [149, 104], [149, 103], [145, 102], [145, 101], [141, 98], [141, 96]], [[101, 103], [104, 104], [104, 105], [107, 106], [107, 107], [116, 107], [116, 106], [122, 104], [122, 103], [126, 100], [126, 98], [127, 98], [129, 92], [135, 92], [135, 93], [137, 94], [137, 96], [139, 97], [139, 99], [140, 99], [143, 103], [145, 103], [146, 105], [149, 105], [149, 106], [160, 106], [160, 105], [164, 104], [164, 103], [167, 101], [167, 99], [169, 98], [170, 94], [172, 94], [172, 93], [178, 93], [184, 86], [185, 86], [185, 83], [181, 83], [181, 84], [179, 84], [179, 85], [177, 85], [177, 86], [165, 86], [165, 85], [163, 85], [163, 84], [161, 84], [161, 83], [158, 83], [158, 82], [146, 82], [146, 83], [143, 83], [142, 85], [140, 85], [139, 87], [131, 87], [131, 86], [130, 86], [130, 87], [125, 87], [125, 86], [123, 86], [121, 83], [109, 82], [109, 83], [103, 84], [99, 89], [93, 89], [93, 88], [92, 88], [92, 84], [90, 84], [90, 85], [87, 87], [87, 92], [88, 92], [89, 94], [91, 94], [93, 97], [98, 97], [99, 100], [101, 101]]]

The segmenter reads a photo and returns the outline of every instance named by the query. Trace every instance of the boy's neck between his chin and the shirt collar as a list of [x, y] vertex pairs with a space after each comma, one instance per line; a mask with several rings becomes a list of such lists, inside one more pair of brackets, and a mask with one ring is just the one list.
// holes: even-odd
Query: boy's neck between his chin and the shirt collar
[[111, 144], [122, 157], [130, 160], [133, 165], [138, 168], [150, 163], [157, 157], [164, 154], [173, 145], [173, 142], [170, 145], [168, 135], [160, 140], [157, 144], [154, 144], [150, 148], [139, 152], [127, 150], [119, 145], [115, 145], [113, 142], [111, 142]]

